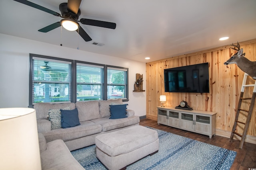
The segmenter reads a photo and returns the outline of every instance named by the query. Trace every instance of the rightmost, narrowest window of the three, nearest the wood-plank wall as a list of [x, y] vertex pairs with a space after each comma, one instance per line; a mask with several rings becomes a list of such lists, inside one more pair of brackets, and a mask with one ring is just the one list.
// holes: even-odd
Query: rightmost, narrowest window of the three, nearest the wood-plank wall
[[107, 66], [107, 98], [128, 100], [128, 68]]

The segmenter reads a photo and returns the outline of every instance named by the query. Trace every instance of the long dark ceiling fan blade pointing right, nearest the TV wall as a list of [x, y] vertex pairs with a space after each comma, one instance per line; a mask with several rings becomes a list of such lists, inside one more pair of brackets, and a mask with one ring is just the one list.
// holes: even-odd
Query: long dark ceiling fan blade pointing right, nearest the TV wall
[[85, 25], [93, 25], [93, 26], [97, 26], [97, 27], [116, 29], [116, 23], [113, 23], [113, 22], [90, 20], [90, 19], [85, 19], [85, 18], [81, 18], [80, 22]]

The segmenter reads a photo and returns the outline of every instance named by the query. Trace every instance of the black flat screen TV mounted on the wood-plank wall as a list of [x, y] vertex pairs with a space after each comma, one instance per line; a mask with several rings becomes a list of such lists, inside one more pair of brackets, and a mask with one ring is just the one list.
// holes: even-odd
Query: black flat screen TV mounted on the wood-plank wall
[[165, 92], [209, 93], [209, 64], [164, 69]]

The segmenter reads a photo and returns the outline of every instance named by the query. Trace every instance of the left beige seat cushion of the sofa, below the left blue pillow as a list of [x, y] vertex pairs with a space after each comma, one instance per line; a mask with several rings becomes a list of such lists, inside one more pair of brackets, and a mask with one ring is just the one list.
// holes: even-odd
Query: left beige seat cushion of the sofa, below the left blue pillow
[[42, 134], [44, 135], [47, 142], [54, 141], [56, 139], [62, 139], [65, 142], [100, 133], [102, 131], [102, 126], [93, 123], [92, 121], [83, 121], [80, 123], [81, 125], [76, 127], [70, 127], [66, 129], [53, 129]]

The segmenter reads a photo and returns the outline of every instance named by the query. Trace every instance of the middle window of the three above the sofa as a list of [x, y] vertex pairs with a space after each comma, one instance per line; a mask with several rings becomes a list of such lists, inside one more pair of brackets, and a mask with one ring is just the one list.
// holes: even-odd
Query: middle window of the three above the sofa
[[104, 99], [104, 65], [75, 61], [76, 101]]

